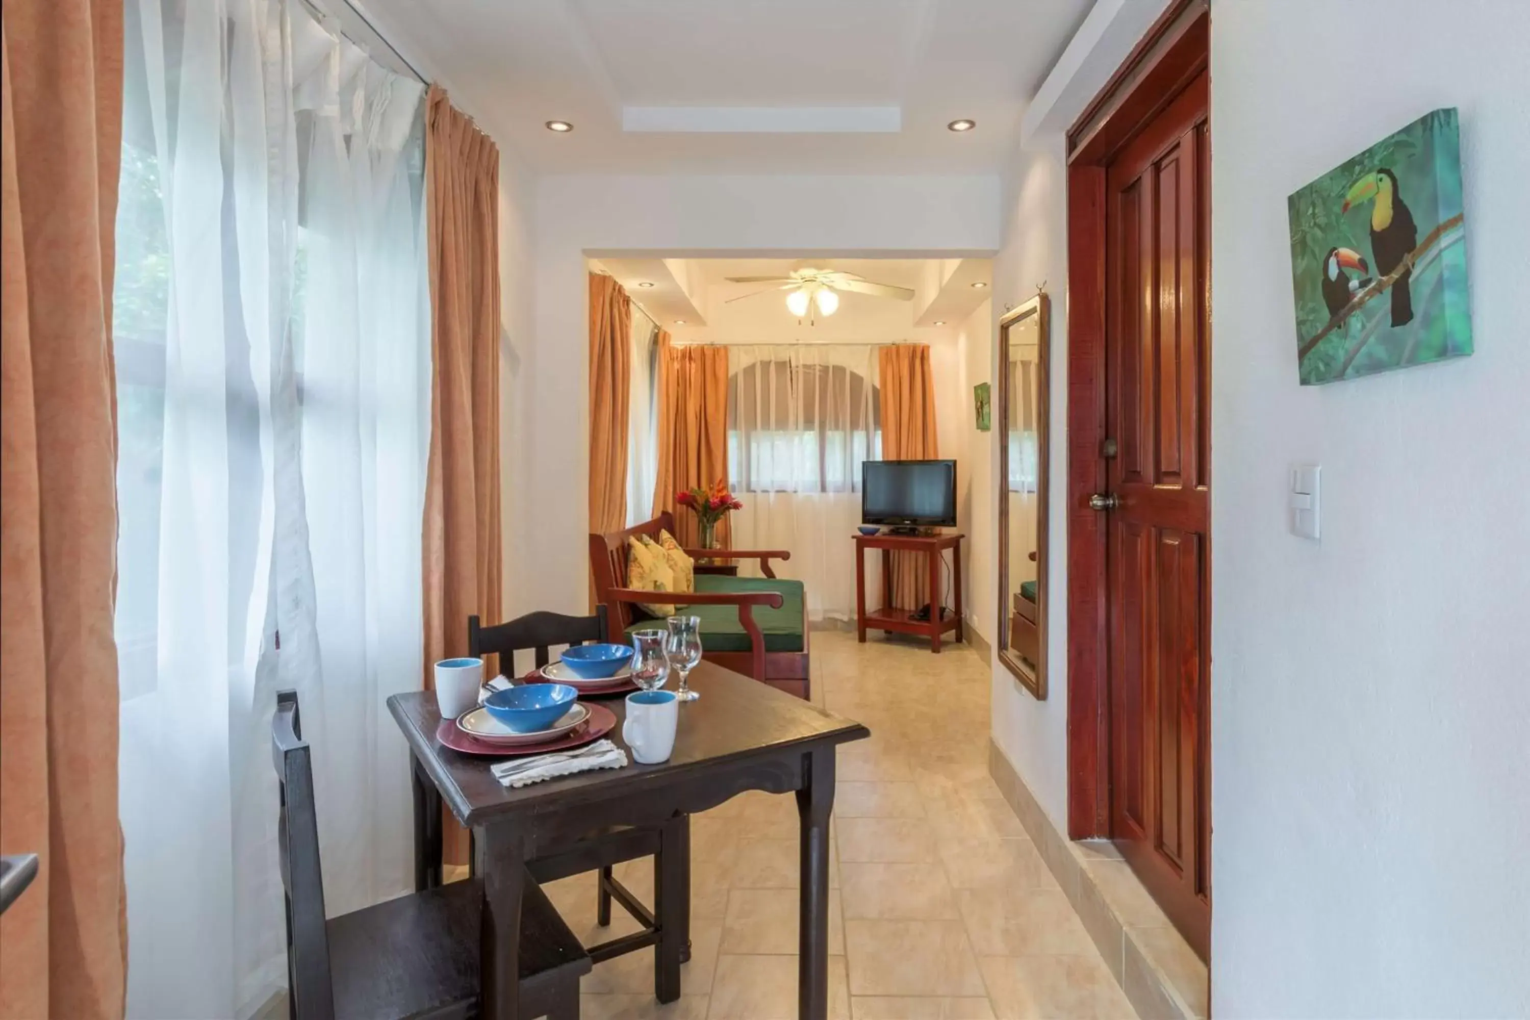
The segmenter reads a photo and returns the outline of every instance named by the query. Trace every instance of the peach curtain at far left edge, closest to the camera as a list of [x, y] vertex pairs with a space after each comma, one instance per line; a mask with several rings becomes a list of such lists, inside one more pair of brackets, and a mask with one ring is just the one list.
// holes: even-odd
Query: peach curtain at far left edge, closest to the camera
[[121, 0], [8, 0], [0, 252], [0, 1017], [121, 1017], [116, 434]]

